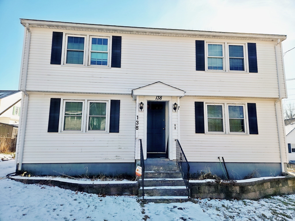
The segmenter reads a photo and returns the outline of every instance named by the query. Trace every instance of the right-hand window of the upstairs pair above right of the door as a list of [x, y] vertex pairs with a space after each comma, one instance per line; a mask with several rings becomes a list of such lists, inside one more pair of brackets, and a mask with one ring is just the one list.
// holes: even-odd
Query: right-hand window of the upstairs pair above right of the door
[[228, 46], [231, 71], [244, 71], [244, 46], [229, 45]]

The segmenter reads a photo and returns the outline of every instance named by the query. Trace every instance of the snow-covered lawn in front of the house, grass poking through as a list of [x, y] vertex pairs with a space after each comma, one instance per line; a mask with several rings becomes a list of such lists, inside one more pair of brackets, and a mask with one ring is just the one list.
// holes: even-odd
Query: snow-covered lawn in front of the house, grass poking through
[[[14, 160], [0, 162], [1, 177], [14, 171]], [[6, 178], [0, 180], [0, 220], [295, 220], [295, 195], [170, 204], [142, 204], [138, 199], [103, 197]]]

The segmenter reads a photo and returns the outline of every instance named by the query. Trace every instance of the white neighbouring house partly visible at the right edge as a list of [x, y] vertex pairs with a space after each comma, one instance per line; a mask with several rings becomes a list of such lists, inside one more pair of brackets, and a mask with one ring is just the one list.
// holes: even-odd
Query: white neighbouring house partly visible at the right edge
[[295, 118], [285, 120], [288, 158], [295, 163]]

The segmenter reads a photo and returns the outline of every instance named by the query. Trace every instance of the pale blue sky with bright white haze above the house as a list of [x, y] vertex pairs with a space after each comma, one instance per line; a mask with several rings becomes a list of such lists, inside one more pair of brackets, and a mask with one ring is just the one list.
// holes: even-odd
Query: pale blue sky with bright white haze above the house
[[[0, 90], [17, 90], [24, 28], [20, 18], [286, 34], [283, 51], [295, 47], [295, 1], [7, 1], [0, 0]], [[295, 49], [284, 56], [286, 78], [295, 78]], [[288, 102], [295, 80], [287, 81]]]

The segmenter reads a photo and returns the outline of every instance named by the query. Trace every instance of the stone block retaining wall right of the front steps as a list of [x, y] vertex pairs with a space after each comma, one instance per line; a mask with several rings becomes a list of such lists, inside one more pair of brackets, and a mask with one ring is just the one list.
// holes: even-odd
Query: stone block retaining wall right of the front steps
[[260, 199], [269, 195], [295, 194], [295, 177], [253, 182], [191, 183], [191, 197], [217, 199]]

